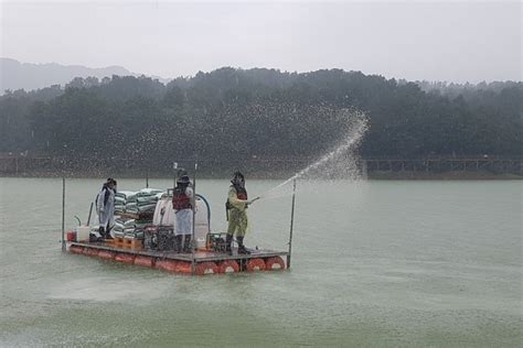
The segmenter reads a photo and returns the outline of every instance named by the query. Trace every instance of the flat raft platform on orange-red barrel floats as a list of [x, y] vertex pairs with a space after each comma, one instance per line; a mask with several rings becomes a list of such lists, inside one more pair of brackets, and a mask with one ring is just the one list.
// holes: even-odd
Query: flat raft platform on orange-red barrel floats
[[[136, 264], [180, 274], [222, 274], [236, 272], [275, 271], [287, 268], [284, 257], [286, 251], [249, 250], [250, 254], [233, 254], [196, 250], [192, 253], [174, 251], [156, 251], [145, 249], [127, 249], [107, 242], [72, 242], [70, 252], [103, 260]], [[193, 258], [194, 257], [194, 258]]]

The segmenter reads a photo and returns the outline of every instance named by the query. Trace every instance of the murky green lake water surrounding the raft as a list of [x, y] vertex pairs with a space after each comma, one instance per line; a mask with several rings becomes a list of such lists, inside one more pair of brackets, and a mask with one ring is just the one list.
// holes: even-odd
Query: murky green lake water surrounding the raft
[[[85, 219], [99, 184], [67, 181], [68, 227], [74, 215]], [[143, 184], [121, 180], [119, 188]], [[61, 185], [0, 178], [2, 347], [523, 341], [521, 182], [298, 182], [291, 270], [205, 278], [62, 253]], [[215, 230], [226, 226], [227, 186], [196, 186]], [[262, 199], [249, 216], [249, 247], [286, 248], [289, 196]]]

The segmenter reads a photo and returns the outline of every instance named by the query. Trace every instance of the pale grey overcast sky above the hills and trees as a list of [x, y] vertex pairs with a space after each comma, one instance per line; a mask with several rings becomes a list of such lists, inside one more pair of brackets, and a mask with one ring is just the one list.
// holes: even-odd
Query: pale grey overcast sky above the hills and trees
[[1, 1], [1, 56], [161, 77], [222, 66], [521, 80], [520, 1]]

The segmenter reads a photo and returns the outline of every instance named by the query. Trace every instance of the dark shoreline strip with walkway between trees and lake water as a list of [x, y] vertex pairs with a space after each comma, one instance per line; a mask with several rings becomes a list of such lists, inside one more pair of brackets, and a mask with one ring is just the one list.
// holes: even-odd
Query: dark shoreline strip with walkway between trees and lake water
[[[193, 176], [192, 161], [179, 162]], [[312, 159], [253, 159], [249, 161], [221, 162], [201, 160], [198, 178], [230, 178], [234, 171], [242, 171], [256, 180], [287, 180], [313, 163]], [[352, 174], [363, 173], [371, 181], [380, 180], [523, 180], [521, 157], [476, 156], [466, 159], [434, 157], [418, 160], [361, 159], [355, 160]], [[327, 171], [321, 177], [329, 178]], [[317, 172], [320, 173], [320, 172]], [[351, 172], [338, 170], [349, 178]], [[147, 163], [128, 159], [102, 161], [74, 161], [62, 157], [4, 157], [0, 159], [0, 177], [71, 177], [71, 178], [172, 178], [172, 163]], [[340, 175], [338, 175], [340, 177]]]

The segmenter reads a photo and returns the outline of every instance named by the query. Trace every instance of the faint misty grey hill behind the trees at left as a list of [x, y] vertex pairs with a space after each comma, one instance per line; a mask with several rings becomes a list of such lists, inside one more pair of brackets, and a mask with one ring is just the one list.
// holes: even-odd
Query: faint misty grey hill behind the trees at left
[[31, 64], [0, 57], [0, 94], [6, 89], [39, 89], [52, 85], [65, 85], [75, 77], [94, 76], [97, 78], [113, 75], [136, 75], [121, 66], [90, 68], [81, 65], [61, 65], [56, 63]]

